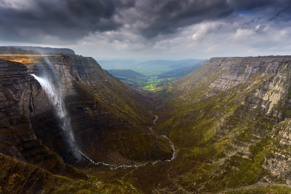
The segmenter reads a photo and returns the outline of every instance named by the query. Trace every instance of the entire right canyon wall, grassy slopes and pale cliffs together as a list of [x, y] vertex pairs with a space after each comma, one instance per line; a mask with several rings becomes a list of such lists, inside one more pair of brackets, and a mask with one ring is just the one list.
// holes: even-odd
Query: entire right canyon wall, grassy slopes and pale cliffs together
[[288, 57], [212, 58], [159, 91], [167, 98], [158, 106], [157, 131], [179, 149], [172, 169], [186, 168], [178, 173], [182, 188], [202, 193], [264, 181], [290, 184], [288, 135], [276, 140], [283, 145], [272, 141], [291, 116], [290, 65]]

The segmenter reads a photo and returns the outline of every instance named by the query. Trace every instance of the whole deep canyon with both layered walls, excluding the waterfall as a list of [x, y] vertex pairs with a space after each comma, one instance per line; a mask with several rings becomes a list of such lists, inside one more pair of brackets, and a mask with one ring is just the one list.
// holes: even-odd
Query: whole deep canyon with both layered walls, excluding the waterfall
[[[49, 77], [63, 94], [80, 157], [32, 74]], [[290, 56], [211, 58], [185, 77], [161, 84], [151, 97], [91, 57], [77, 55], [0, 55], [0, 83], [2, 161], [21, 158], [18, 166], [41, 167], [37, 173], [47, 180], [62, 175], [70, 186], [83, 179], [91, 187], [123, 189], [126, 183], [144, 193], [291, 185]], [[8, 183], [12, 178], [2, 171], [6, 179], [1, 180]], [[36, 185], [46, 193], [65, 192], [57, 183]], [[22, 191], [36, 193], [28, 191], [32, 186], [27, 183]]]

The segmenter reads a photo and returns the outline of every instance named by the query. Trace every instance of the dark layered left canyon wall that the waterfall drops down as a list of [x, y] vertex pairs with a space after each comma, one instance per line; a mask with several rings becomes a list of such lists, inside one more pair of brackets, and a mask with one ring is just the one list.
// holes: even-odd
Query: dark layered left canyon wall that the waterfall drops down
[[[147, 127], [152, 124], [153, 116], [144, 104], [137, 101], [142, 97], [103, 70], [92, 58], [27, 56], [25, 63], [12, 62], [17, 61], [15, 58], [17, 56], [1, 60], [1, 127], [8, 129], [12, 123], [23, 124], [27, 121], [30, 131], [22, 127], [20, 129], [26, 136], [29, 135], [29, 142], [34, 142], [34, 147], [41, 148], [34, 155], [51, 151], [61, 155], [66, 162], [77, 162], [67, 152], [67, 142], [47, 94], [29, 75], [34, 73], [42, 77], [47, 70], [54, 69], [55, 72], [49, 71], [46, 76], [56, 75], [54, 83], [59, 84], [64, 93], [76, 142], [86, 155], [108, 163], [132, 163], [171, 157], [168, 140], [153, 134]], [[22, 120], [12, 121], [10, 117], [16, 114]], [[6, 132], [9, 137], [11, 133]], [[23, 134], [16, 136], [25, 138]], [[17, 144], [11, 139], [8, 142], [13, 142], [13, 146], [18, 146], [16, 151], [24, 154], [24, 149], [19, 148], [23, 142]], [[9, 146], [4, 147], [9, 149]], [[32, 154], [30, 149], [34, 147], [29, 145], [25, 154]], [[78, 161], [78, 165], [85, 164], [88, 161]]]

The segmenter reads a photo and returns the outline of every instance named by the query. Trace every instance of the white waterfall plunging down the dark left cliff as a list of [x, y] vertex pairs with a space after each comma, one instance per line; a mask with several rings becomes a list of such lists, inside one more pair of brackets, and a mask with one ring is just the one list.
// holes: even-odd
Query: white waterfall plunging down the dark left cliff
[[52, 102], [56, 115], [60, 120], [60, 127], [64, 131], [65, 138], [69, 143], [69, 151], [71, 151], [76, 158], [81, 159], [81, 154], [77, 148], [74, 134], [72, 132], [70, 118], [65, 109], [62, 91], [59, 87], [54, 86], [52, 79], [48, 77], [37, 77], [35, 74], [31, 75], [40, 83], [48, 95], [49, 100]]

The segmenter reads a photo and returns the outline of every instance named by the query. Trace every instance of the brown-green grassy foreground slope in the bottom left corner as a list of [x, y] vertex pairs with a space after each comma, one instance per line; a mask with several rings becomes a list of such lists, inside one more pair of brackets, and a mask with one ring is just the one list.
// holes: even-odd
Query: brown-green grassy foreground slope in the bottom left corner
[[91, 177], [87, 181], [53, 175], [38, 166], [22, 163], [0, 153], [0, 193], [129, 193], [140, 194], [129, 183], [119, 180], [101, 181]]

